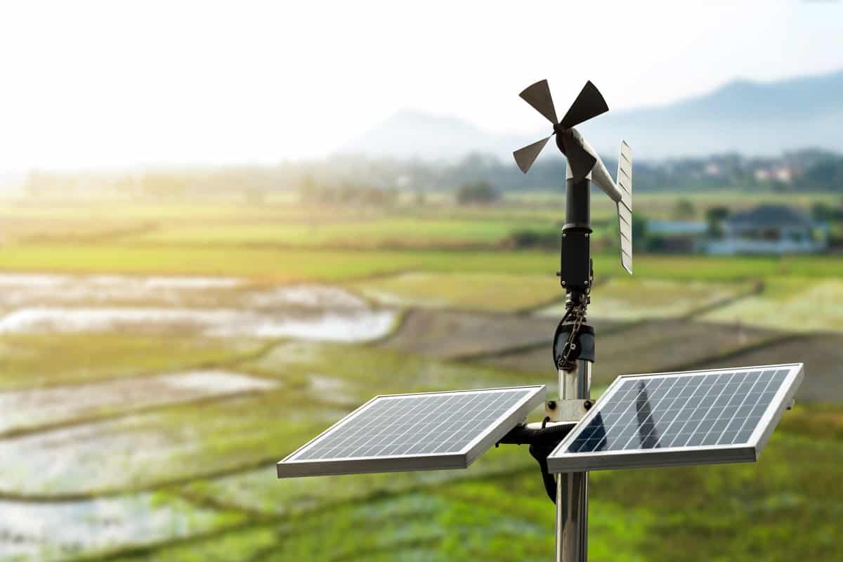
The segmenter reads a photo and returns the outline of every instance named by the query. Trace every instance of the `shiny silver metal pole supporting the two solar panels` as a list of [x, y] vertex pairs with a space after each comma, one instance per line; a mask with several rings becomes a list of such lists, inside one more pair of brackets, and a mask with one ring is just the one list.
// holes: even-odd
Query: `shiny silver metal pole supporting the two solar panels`
[[[592, 362], [580, 359], [576, 371], [559, 371], [559, 398], [591, 398]], [[556, 479], [556, 562], [588, 559], [588, 473]]]

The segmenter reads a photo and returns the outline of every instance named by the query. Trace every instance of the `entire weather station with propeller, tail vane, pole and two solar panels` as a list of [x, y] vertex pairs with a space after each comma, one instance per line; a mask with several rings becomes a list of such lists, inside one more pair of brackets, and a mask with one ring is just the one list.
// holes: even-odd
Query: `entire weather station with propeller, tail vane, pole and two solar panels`
[[[529, 445], [556, 505], [556, 560], [588, 558], [588, 471], [754, 462], [793, 403], [802, 363], [621, 375], [591, 398], [595, 331], [590, 189], [617, 205], [620, 263], [632, 273], [632, 153], [620, 143], [613, 180], [574, 128], [609, 110], [586, 83], [561, 120], [546, 80], [521, 98], [550, 121], [550, 136], [513, 156], [522, 172], [551, 136], [566, 157], [566, 217], [557, 276], [566, 312], [553, 336], [558, 396], [545, 385], [376, 396], [277, 463], [278, 478], [468, 468], [491, 447]], [[544, 407], [541, 422], [527, 423]]]

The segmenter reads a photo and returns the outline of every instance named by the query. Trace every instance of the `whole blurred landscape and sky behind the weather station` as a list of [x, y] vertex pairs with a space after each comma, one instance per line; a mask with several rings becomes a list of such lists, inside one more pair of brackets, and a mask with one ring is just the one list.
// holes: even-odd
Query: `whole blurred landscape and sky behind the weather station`
[[836, 559], [843, 3], [4, 3], [0, 559], [546, 560], [524, 447], [277, 480], [376, 393], [547, 383], [590, 79], [594, 395], [804, 361], [759, 463], [593, 473], [593, 560]]

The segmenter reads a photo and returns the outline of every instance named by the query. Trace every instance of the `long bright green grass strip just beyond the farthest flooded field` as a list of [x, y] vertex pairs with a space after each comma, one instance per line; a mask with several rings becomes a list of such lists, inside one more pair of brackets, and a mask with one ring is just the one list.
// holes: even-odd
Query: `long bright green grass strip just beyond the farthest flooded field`
[[[625, 276], [612, 254], [595, 254], [597, 280]], [[397, 272], [499, 273], [553, 278], [558, 254], [488, 250], [336, 250], [57, 244], [11, 246], [0, 270], [62, 273], [130, 273], [244, 276], [266, 281], [351, 281]], [[678, 281], [747, 281], [779, 276], [843, 276], [843, 258], [787, 256], [635, 258], [636, 278]]]

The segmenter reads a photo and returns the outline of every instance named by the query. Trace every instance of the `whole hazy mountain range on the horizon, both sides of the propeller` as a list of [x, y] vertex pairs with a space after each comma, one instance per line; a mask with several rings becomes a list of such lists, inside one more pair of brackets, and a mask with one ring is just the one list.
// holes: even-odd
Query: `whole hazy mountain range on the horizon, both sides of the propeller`
[[[556, 100], [560, 114], [566, 103]], [[614, 155], [622, 137], [637, 158], [773, 155], [801, 147], [843, 151], [843, 71], [766, 83], [735, 80], [672, 104], [610, 111], [577, 128], [600, 153]], [[480, 152], [508, 159], [548, 132], [545, 126], [534, 136], [491, 135], [457, 117], [400, 111], [341, 152], [424, 159]]]

